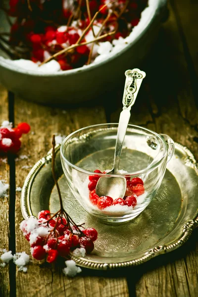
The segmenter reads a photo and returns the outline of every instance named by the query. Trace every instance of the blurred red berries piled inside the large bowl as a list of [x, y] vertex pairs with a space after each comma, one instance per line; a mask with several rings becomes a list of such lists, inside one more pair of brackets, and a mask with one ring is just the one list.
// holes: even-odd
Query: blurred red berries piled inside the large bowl
[[[147, 6], [147, 2], [148, 0], [109, 0], [109, 4], [104, 6], [107, 3], [106, 0], [89, 1], [91, 17], [101, 9], [94, 22], [94, 25], [98, 27], [111, 11], [101, 35], [114, 30], [116, 33], [106, 36], [101, 41], [112, 42], [113, 39], [127, 37], [132, 28], [139, 23], [141, 12]], [[28, 46], [31, 53], [29, 58], [34, 62], [43, 62], [47, 56], [76, 44], [84, 29], [89, 25], [90, 19], [86, 0], [74, 0], [72, 4], [68, 3], [69, 1], [29, 0], [30, 9], [27, 0], [10, 0], [8, 14], [16, 17], [10, 31], [11, 45]], [[123, 8], [125, 8], [124, 13], [118, 17]], [[86, 36], [81, 42], [85, 41]], [[56, 59], [62, 70], [69, 70], [86, 64], [89, 53], [90, 47], [83, 45], [67, 54], [59, 55]]]

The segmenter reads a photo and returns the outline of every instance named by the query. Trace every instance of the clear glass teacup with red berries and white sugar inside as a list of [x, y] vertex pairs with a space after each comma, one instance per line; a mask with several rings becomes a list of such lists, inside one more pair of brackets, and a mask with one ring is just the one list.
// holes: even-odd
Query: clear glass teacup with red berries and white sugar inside
[[[85, 127], [67, 136], [60, 148], [63, 172], [74, 197], [90, 214], [107, 222], [131, 220], [148, 206], [161, 185], [175, 148], [167, 135], [128, 125], [119, 163], [120, 175], [108, 175], [105, 172], [113, 167], [117, 129], [118, 124]], [[121, 202], [99, 198], [95, 193], [99, 178], [109, 176], [127, 180]]]

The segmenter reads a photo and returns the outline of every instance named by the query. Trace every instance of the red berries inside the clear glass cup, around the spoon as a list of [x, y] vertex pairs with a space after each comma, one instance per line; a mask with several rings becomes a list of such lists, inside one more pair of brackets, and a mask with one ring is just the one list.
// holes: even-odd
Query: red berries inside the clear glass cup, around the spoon
[[[95, 170], [95, 173], [102, 173], [100, 170]], [[106, 173], [104, 171], [103, 173]], [[104, 209], [108, 206], [111, 205], [127, 205], [127, 206], [136, 206], [137, 204], [137, 197], [140, 195], [143, 195], [145, 193], [145, 188], [144, 188], [144, 182], [141, 178], [139, 177], [134, 177], [132, 180], [130, 177], [126, 177], [127, 180], [127, 189], [125, 192], [124, 198], [116, 198], [113, 200], [113, 198], [109, 196], [101, 196], [99, 197], [96, 194], [96, 186], [99, 180], [98, 175], [90, 175], [89, 176], [89, 184], [88, 188], [90, 190], [90, 201], [94, 204], [97, 205], [99, 209]]]

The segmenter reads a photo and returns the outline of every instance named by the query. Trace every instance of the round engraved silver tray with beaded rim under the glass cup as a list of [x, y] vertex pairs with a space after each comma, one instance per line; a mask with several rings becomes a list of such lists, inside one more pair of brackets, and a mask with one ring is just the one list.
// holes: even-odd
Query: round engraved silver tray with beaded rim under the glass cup
[[[99, 232], [94, 251], [85, 257], [72, 257], [78, 265], [93, 269], [134, 266], [183, 245], [198, 226], [198, 164], [191, 151], [175, 144], [175, 154], [157, 195], [134, 220], [105, 224], [89, 214], [71, 194], [56, 146], [56, 175], [64, 207], [77, 224]], [[24, 218], [37, 216], [43, 209], [59, 209], [51, 174], [51, 151], [28, 174], [21, 192]]]

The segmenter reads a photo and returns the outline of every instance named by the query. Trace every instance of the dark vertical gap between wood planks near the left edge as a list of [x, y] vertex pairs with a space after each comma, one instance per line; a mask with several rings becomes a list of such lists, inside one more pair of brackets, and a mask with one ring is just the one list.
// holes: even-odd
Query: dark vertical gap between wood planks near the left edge
[[[8, 108], [9, 122], [14, 126], [14, 94], [8, 92]], [[16, 183], [15, 183], [15, 160], [14, 156], [8, 156], [9, 164], [9, 250], [12, 254], [16, 252], [15, 244], [15, 198], [16, 198]], [[9, 282], [10, 296], [16, 297], [16, 265], [13, 261], [9, 262]]]

